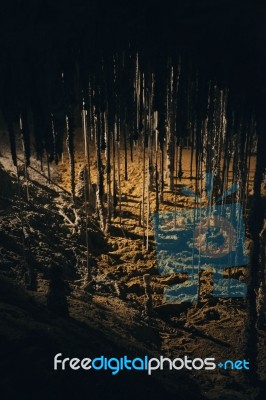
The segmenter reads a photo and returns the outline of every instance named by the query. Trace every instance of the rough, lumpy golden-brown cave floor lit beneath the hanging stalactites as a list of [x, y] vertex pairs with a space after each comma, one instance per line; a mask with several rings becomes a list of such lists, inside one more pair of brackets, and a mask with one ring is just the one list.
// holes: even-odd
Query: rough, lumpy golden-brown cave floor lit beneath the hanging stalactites
[[[172, 193], [167, 186], [165, 187], [164, 203], [160, 205], [160, 211], [171, 211], [174, 204], [177, 209], [193, 207], [194, 199], [181, 193], [184, 186], [189, 186], [191, 190], [194, 190], [194, 182], [189, 179], [189, 151], [184, 150], [183, 153], [182, 181], [176, 181], [176, 193]], [[94, 156], [91, 151], [92, 183], [96, 182]], [[85, 330], [90, 329], [96, 332], [94, 337], [99, 335], [98, 342], [95, 339], [95, 342], [92, 340], [88, 344], [88, 351], [95, 354], [97, 354], [95, 349], [101, 346], [99, 344], [101, 342], [106, 352], [108, 349], [115, 351], [115, 346], [117, 346], [119, 348], [117, 351], [127, 349], [136, 357], [147, 353], [154, 356], [164, 355], [171, 359], [188, 355], [191, 358], [215, 357], [216, 360], [221, 361], [242, 360], [246, 340], [246, 300], [212, 297], [210, 270], [201, 274], [202, 292], [198, 302], [191, 303], [186, 308], [180, 304], [169, 305], [164, 302], [164, 288], [174, 282], [175, 277], [161, 276], [158, 273], [151, 224], [149, 225], [148, 250], [144, 245], [143, 234], [146, 233], [146, 228], [140, 226], [139, 223], [142, 199], [142, 157], [137, 146], [133, 156], [134, 160], [131, 162], [128, 154], [128, 180], [125, 181], [124, 159], [121, 155], [121, 208], [118, 203], [116, 216], [112, 219], [108, 234], [103, 235], [100, 232], [97, 215], [93, 207], [90, 208], [90, 243], [92, 245], [90, 265], [95, 280], [94, 290], [91, 291], [84, 283], [86, 246], [84, 235], [73, 229], [75, 212], [71, 196], [53, 183], [48, 183], [47, 179], [41, 177], [39, 173], [29, 169], [30, 201], [27, 203], [24, 198], [26, 182], [23, 176], [21, 176], [23, 200], [19, 201], [17, 189], [14, 189], [16, 180], [10, 155], [8, 150], [2, 150], [0, 162], [11, 176], [13, 174], [11, 178], [13, 183], [10, 192], [6, 188], [6, 192], [1, 197], [1, 275], [4, 278], [3, 282], [7, 280], [8, 284], [12, 282], [12, 285], [24, 288], [21, 301], [13, 300], [11, 292], [4, 295], [1, 303], [1, 313], [4, 317], [2, 336], [8, 336], [11, 342], [13, 340], [16, 343], [16, 346], [20, 346], [20, 343], [22, 346], [30, 332], [38, 335], [42, 329], [52, 329], [53, 332], [57, 330], [59, 338], [65, 327], [66, 337], [68, 338], [69, 335], [69, 340], [76, 340], [71, 338], [71, 335], [74, 330], [73, 321], [77, 321], [83, 324], [83, 328], [81, 325], [79, 327], [81, 336], [84, 335], [82, 331], [84, 327]], [[58, 168], [51, 167], [51, 179], [69, 191], [69, 166], [66, 151], [63, 160], [64, 162], [60, 162]], [[77, 140], [76, 170], [78, 171], [83, 165], [83, 145]], [[32, 166], [40, 171], [40, 163], [34, 158]], [[253, 163], [251, 170], [253, 173]], [[43, 173], [47, 176], [45, 164]], [[150, 193], [150, 208], [152, 213], [155, 210], [154, 191]], [[66, 221], [65, 217], [69, 221]], [[25, 288], [21, 218], [25, 221], [31, 236], [31, 263], [36, 274], [36, 290], [33, 291]], [[63, 268], [65, 280], [68, 282], [67, 303], [71, 322], [69, 325], [67, 319], [63, 322], [61, 319], [59, 322], [51, 319], [50, 322], [49, 317], [40, 322], [38, 317], [35, 318], [34, 311], [30, 321], [33, 330], [28, 329], [24, 326], [24, 317], [30, 312], [27, 307], [35, 307], [37, 304], [41, 307], [40, 313], [46, 313], [47, 271], [53, 263]], [[243, 279], [247, 279], [244, 269], [241, 273], [244, 276]], [[155, 313], [150, 318], [144, 314], [144, 274], [151, 276]], [[14, 296], [19, 298], [17, 294]], [[24, 296], [27, 296], [27, 300]], [[28, 303], [32, 303], [31, 306], [28, 306]], [[43, 326], [41, 327], [40, 324]], [[15, 328], [13, 326], [11, 329], [12, 325]], [[188, 381], [183, 386], [196, 385], [202, 398], [207, 399], [255, 399], [259, 393], [259, 384], [254, 384], [248, 374], [252, 374], [252, 369], [254, 371], [255, 368], [262, 382], [265, 380], [266, 370], [265, 331], [259, 330], [257, 336], [257, 348], [254, 349], [258, 353], [257, 365], [252, 365], [250, 371], [246, 373], [219, 369], [193, 371], [187, 374]], [[27, 346], [29, 352], [33, 351], [33, 345], [27, 344]], [[64, 346], [66, 347], [65, 343]], [[83, 343], [81, 348], [85, 347]], [[56, 350], [56, 352], [59, 351], [60, 349]], [[162, 385], [169, 390], [173, 390], [173, 393], [180, 389], [180, 385], [182, 386], [181, 376], [183, 377], [183, 374], [181, 375], [178, 371], [154, 374], [156, 380], [162, 382]], [[185, 379], [184, 382], [186, 382]]]

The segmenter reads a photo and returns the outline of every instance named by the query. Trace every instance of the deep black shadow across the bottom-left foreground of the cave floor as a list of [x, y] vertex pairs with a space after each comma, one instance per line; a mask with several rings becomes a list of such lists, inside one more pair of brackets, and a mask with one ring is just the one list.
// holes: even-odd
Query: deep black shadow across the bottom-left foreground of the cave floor
[[[5, 282], [2, 282], [4, 285]], [[136, 398], [134, 390], [128, 395], [128, 388], [137, 386], [138, 398], [162, 399], [166, 396], [173, 398], [177, 385], [180, 385], [180, 400], [189, 398], [193, 393], [195, 400], [205, 398], [201, 394], [198, 384], [187, 373], [173, 375], [166, 371], [167, 379], [162, 374], [148, 376], [143, 372], [121, 372], [113, 377], [110, 371], [99, 374], [88, 374], [87, 371], [53, 371], [53, 358], [55, 354], [62, 353], [62, 358], [69, 356], [97, 357], [103, 354], [106, 357], [130, 358], [151, 354], [143, 347], [141, 341], [130, 345], [130, 339], [120, 340], [118, 335], [112, 333], [112, 328], [103, 331], [91, 326], [90, 321], [78, 320], [77, 317], [51, 316], [47, 307], [41, 306], [37, 298], [31, 299], [27, 293], [14, 285], [6, 282], [5, 303], [14, 305], [10, 308], [8, 319], [5, 320], [5, 330], [1, 341], [1, 360], [3, 368], [2, 395], [4, 398], [18, 398], [29, 393], [32, 398], [39, 399], [69, 399], [75, 388], [75, 396], [81, 398], [84, 393], [90, 393], [93, 398], [106, 398], [133, 400]], [[11, 287], [10, 287], [11, 286]], [[13, 288], [13, 297], [11, 289]], [[20, 294], [20, 296], [18, 296]], [[11, 301], [13, 299], [13, 301]], [[22, 301], [23, 300], [23, 301]], [[13, 307], [13, 306], [9, 307]], [[94, 305], [97, 312], [98, 304]], [[21, 310], [21, 311], [18, 311]], [[11, 313], [13, 311], [13, 313]], [[15, 312], [19, 312], [19, 318]], [[112, 314], [112, 312], [111, 312]], [[115, 310], [113, 310], [115, 315]], [[25, 316], [27, 323], [25, 324]], [[13, 330], [21, 332], [16, 341], [13, 340]], [[126, 329], [126, 325], [125, 325]], [[47, 373], [47, 371], [51, 371]], [[175, 380], [176, 384], [174, 384]], [[171, 383], [170, 383], [171, 381]], [[103, 384], [104, 382], [104, 384]]]

